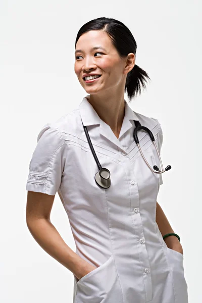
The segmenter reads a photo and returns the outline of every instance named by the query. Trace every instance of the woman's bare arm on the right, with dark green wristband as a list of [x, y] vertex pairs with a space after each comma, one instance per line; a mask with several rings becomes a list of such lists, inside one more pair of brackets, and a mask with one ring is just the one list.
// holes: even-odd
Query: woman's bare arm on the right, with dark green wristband
[[[174, 230], [172, 229], [168, 219], [166, 218], [166, 215], [164, 214], [158, 202], [157, 202], [157, 210], [156, 210], [156, 222], [162, 236], [164, 236], [167, 233], [174, 233]], [[164, 239], [164, 241], [166, 242], [166, 245], [169, 248], [181, 252], [181, 254], [183, 254], [182, 245], [176, 236], [168, 236]]]

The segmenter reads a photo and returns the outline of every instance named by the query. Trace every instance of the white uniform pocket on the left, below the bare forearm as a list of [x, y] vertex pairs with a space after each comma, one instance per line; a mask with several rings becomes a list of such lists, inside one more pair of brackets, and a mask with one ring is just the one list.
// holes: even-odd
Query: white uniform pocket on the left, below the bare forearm
[[76, 303], [123, 303], [113, 255], [104, 264], [78, 280], [76, 285]]

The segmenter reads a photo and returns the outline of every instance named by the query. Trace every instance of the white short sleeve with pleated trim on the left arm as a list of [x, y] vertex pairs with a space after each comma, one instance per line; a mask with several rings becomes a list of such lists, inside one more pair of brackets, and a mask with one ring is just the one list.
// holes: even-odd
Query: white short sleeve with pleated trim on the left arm
[[55, 195], [60, 188], [65, 165], [65, 141], [60, 130], [47, 123], [37, 137], [29, 163], [26, 190]]

